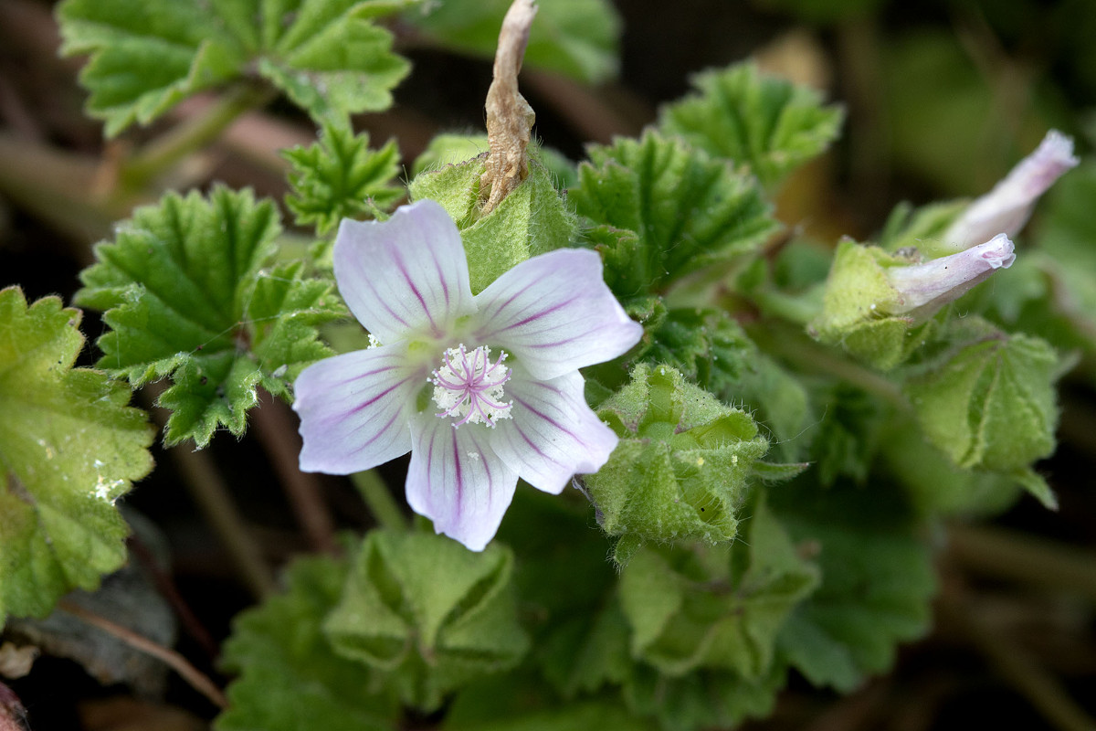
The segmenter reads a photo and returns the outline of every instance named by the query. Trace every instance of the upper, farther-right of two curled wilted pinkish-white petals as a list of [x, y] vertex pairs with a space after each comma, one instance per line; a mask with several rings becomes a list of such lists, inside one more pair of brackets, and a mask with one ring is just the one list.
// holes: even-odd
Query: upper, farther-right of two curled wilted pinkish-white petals
[[1020, 160], [992, 191], [970, 204], [944, 235], [944, 242], [959, 251], [997, 233], [1015, 236], [1027, 222], [1039, 196], [1076, 164], [1073, 140], [1051, 129], [1035, 152]]

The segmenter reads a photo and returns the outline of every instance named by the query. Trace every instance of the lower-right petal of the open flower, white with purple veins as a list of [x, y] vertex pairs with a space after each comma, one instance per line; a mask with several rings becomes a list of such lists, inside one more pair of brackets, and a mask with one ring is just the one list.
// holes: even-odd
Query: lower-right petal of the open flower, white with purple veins
[[576, 370], [534, 380], [515, 364], [506, 398], [511, 419], [490, 433], [491, 447], [538, 490], [558, 494], [571, 476], [601, 469], [617, 445], [613, 430], [586, 406]]

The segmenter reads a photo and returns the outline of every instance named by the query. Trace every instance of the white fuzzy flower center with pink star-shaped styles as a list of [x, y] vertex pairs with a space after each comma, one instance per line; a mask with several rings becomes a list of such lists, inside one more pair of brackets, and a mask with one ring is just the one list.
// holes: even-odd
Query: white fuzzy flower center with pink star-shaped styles
[[499, 419], [510, 419], [513, 402], [503, 403], [502, 385], [510, 380], [510, 368], [502, 365], [507, 354], [500, 352], [491, 363], [491, 349], [480, 345], [469, 352], [464, 344], [450, 347], [442, 356], [442, 366], [430, 378], [434, 384], [434, 403], [438, 416], [454, 416], [454, 426], [471, 422], [494, 426]]

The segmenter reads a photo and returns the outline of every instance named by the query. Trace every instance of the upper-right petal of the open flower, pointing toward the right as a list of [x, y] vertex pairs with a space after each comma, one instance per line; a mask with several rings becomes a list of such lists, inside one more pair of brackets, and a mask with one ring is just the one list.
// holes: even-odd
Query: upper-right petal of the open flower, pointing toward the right
[[602, 279], [601, 256], [582, 249], [522, 262], [476, 305], [476, 342], [498, 343], [540, 379], [615, 358], [643, 334]]

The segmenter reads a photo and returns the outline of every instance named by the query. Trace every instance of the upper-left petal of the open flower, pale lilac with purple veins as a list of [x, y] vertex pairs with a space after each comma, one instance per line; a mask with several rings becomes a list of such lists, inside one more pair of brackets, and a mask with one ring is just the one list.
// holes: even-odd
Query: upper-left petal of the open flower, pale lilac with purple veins
[[476, 311], [460, 232], [435, 201], [402, 206], [386, 221], [344, 218], [333, 258], [339, 292], [381, 343], [441, 335]]

